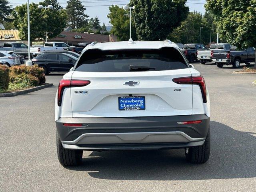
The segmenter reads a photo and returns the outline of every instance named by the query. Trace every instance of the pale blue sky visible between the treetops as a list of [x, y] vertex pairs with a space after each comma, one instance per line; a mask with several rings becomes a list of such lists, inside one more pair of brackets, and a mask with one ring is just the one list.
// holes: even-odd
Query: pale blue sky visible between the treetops
[[[29, 2], [42, 2], [43, 0], [30, 0]], [[125, 4], [128, 4], [130, 0], [81, 0], [82, 4], [86, 7], [86, 14], [88, 14], [89, 18], [94, 18], [97, 16], [100, 19], [101, 25], [104, 22], [106, 26], [109, 26], [109, 19], [107, 18], [110, 5], [117, 4], [122, 7]], [[18, 6], [26, 3], [26, 0], [10, 0], [10, 5]], [[58, 0], [59, 4], [65, 8], [66, 0]], [[204, 14], [204, 3], [205, 0], [187, 0], [186, 5], [190, 8], [190, 11], [197, 11]], [[106, 6], [107, 5], [107, 6]]]

